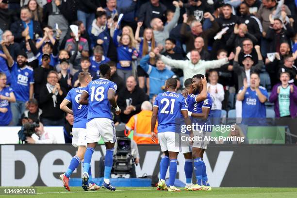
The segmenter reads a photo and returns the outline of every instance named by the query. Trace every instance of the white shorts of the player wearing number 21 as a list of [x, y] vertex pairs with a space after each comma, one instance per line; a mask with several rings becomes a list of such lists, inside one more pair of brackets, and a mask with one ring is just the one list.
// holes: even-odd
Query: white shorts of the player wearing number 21
[[177, 134], [176, 132], [158, 133], [158, 141], [161, 146], [162, 152], [166, 150], [171, 152], [181, 152], [181, 147], [177, 146], [179, 145], [179, 136], [176, 136], [176, 134]]

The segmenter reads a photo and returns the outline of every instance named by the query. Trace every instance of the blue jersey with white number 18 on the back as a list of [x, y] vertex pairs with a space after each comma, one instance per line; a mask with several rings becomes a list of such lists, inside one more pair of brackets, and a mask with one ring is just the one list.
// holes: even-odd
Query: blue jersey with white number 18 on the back
[[99, 117], [112, 119], [110, 103], [107, 98], [109, 89], [116, 92], [115, 82], [103, 78], [92, 81], [85, 87], [84, 91], [89, 94], [88, 122]]

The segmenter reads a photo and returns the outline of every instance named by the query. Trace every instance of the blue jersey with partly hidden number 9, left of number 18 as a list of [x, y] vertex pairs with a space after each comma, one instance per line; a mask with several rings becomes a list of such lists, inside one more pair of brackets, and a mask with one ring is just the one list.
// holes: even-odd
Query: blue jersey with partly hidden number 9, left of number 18
[[88, 105], [79, 104], [79, 99], [82, 95], [84, 87], [76, 87], [71, 89], [66, 100], [72, 103], [72, 111], [74, 116], [73, 128], [86, 128], [87, 115], [88, 115]]

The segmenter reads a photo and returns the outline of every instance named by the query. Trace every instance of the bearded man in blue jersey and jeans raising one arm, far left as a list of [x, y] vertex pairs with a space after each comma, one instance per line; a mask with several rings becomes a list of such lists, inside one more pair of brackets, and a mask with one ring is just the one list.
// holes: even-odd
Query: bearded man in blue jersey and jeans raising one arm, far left
[[26, 65], [26, 52], [20, 50], [16, 56], [16, 61], [14, 61], [5, 44], [5, 41], [1, 41], [4, 54], [7, 57], [8, 66], [11, 67], [11, 88], [14, 90], [16, 96], [16, 102], [11, 104], [13, 113], [12, 125], [16, 126], [20, 116], [26, 109], [26, 102], [33, 98], [34, 74], [33, 69]]

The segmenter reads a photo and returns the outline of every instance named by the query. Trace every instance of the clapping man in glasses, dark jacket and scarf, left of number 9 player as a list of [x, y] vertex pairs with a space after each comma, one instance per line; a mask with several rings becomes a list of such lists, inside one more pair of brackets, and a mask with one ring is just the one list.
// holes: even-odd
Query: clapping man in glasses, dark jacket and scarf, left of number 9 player
[[66, 97], [66, 90], [58, 83], [58, 73], [50, 71], [47, 83], [40, 89], [39, 104], [42, 109], [44, 126], [64, 126], [64, 112], [60, 109], [62, 100]]

